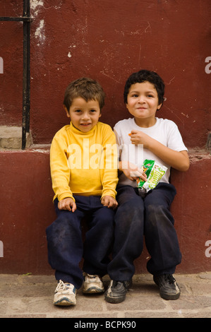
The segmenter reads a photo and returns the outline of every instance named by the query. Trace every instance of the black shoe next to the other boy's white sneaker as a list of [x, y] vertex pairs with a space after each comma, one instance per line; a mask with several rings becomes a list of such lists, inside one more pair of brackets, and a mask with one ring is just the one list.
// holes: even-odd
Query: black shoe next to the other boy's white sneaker
[[126, 298], [126, 292], [131, 286], [132, 281], [116, 281], [111, 280], [111, 283], [105, 292], [105, 300], [110, 303], [120, 303]]

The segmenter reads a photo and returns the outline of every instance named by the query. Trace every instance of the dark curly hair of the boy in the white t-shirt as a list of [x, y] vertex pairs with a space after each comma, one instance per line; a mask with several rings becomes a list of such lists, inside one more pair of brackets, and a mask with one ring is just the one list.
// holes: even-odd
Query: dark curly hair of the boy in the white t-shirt
[[126, 81], [126, 85], [123, 92], [123, 101], [126, 104], [128, 102], [128, 93], [132, 84], [150, 82], [155, 86], [158, 95], [158, 102], [162, 104], [164, 102], [164, 81], [155, 71], [147, 71], [145, 69], [132, 73]]

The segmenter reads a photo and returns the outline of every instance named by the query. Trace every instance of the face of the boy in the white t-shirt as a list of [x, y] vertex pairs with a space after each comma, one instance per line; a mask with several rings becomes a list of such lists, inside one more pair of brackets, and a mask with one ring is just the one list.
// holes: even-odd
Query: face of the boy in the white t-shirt
[[146, 81], [131, 85], [126, 107], [137, 124], [144, 121], [149, 125], [155, 124], [155, 113], [161, 106], [162, 104], [158, 104], [157, 90], [153, 84]]

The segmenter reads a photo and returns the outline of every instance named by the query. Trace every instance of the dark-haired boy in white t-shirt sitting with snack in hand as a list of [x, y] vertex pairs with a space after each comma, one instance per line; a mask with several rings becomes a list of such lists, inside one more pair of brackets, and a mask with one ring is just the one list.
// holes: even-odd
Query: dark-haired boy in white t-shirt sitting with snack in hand
[[[141, 70], [126, 81], [124, 102], [130, 119], [114, 126], [119, 144], [119, 184], [116, 200], [113, 258], [108, 266], [111, 283], [105, 300], [119, 303], [125, 300], [135, 267], [133, 261], [143, 251], [143, 237], [150, 260], [147, 271], [166, 300], [179, 298], [180, 290], [173, 277], [181, 263], [181, 252], [169, 209], [176, 189], [169, 184], [170, 168], [187, 171], [189, 158], [179, 129], [173, 121], [155, 117], [164, 101], [164, 82], [157, 73]], [[138, 191], [136, 179], [146, 181], [141, 169], [145, 159], [167, 167], [155, 189]]]

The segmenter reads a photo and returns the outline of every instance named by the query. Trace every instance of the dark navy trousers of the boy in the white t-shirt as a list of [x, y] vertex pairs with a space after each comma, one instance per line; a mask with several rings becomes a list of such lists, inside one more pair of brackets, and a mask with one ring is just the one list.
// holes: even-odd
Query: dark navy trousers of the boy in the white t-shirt
[[147, 271], [152, 274], [174, 273], [181, 263], [174, 218], [169, 208], [176, 189], [160, 183], [144, 198], [132, 186], [117, 186], [119, 203], [115, 215], [113, 259], [108, 273], [113, 280], [130, 280], [135, 273], [133, 261], [143, 251], [143, 240], [150, 260]]

